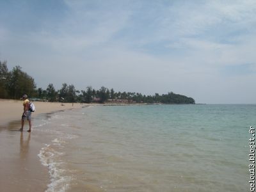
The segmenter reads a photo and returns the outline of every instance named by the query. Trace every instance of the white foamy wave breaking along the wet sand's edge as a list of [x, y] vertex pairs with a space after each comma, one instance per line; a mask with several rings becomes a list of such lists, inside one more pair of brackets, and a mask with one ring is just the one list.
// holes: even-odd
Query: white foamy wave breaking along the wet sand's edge
[[[56, 136], [50, 143], [44, 144], [45, 146], [41, 148], [38, 157], [42, 165], [47, 167], [51, 182], [47, 185], [45, 192], [53, 191], [67, 191], [70, 187], [70, 182], [74, 179], [72, 175], [68, 174], [69, 170], [63, 165], [63, 156], [65, 152], [61, 152], [65, 145], [67, 145], [68, 140], [77, 138], [78, 136], [72, 133], [67, 133], [63, 130], [56, 130], [58, 124], [56, 125], [56, 120], [62, 120], [64, 117], [61, 115], [52, 115], [48, 118], [40, 119], [38, 125], [34, 125], [36, 128], [35, 132], [42, 132], [48, 136]], [[42, 121], [42, 122], [41, 122]], [[60, 124], [59, 127], [69, 127], [68, 124]]]

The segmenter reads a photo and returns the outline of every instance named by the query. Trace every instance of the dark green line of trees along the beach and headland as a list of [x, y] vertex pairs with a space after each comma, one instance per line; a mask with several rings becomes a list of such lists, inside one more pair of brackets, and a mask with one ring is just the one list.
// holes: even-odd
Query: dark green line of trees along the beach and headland
[[135, 102], [135, 103], [163, 103], [163, 104], [195, 104], [191, 97], [175, 94], [142, 95], [135, 92], [115, 92], [102, 86], [95, 90], [87, 86], [86, 90], [76, 90], [73, 84], [63, 83], [60, 90], [56, 90], [50, 83], [46, 90], [36, 88], [33, 77], [29, 76], [22, 68], [17, 66], [8, 71], [6, 61], [0, 61], [0, 98], [20, 99], [23, 94], [29, 98], [48, 100], [50, 102]]

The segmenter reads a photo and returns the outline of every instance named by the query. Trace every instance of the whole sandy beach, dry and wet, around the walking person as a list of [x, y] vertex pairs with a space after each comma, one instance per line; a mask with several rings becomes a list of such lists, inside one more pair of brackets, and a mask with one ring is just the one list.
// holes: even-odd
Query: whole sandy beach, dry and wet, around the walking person
[[20, 128], [22, 100], [0, 99], [0, 191], [45, 191], [49, 184], [49, 173], [40, 163], [38, 152], [47, 138], [43, 133], [33, 132], [33, 118], [42, 113], [66, 109], [77, 109], [86, 104], [33, 102], [36, 111], [32, 114], [32, 132]]

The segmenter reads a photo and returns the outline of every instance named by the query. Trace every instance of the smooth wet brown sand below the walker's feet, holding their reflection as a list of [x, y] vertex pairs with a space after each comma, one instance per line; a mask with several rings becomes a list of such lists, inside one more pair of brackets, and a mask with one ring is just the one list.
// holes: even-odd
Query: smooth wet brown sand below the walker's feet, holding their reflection
[[38, 138], [33, 132], [0, 132], [0, 191], [47, 189], [49, 174], [37, 156], [42, 148]]

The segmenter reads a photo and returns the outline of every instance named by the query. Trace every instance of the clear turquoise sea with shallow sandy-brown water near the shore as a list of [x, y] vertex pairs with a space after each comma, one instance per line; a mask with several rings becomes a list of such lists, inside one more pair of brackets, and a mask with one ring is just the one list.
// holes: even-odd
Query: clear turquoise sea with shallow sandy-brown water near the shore
[[250, 191], [256, 104], [88, 106], [33, 118], [46, 191]]

